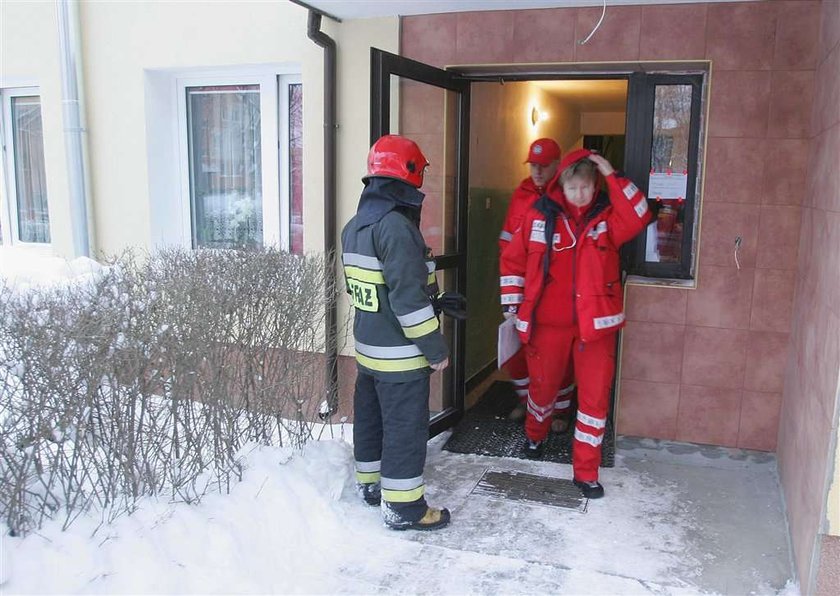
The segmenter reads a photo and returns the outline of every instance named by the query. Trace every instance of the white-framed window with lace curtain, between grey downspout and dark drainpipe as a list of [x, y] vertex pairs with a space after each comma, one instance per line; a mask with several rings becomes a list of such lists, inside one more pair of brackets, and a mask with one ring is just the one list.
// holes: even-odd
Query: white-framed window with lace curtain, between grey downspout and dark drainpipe
[[176, 78], [182, 237], [302, 252], [299, 76]]

